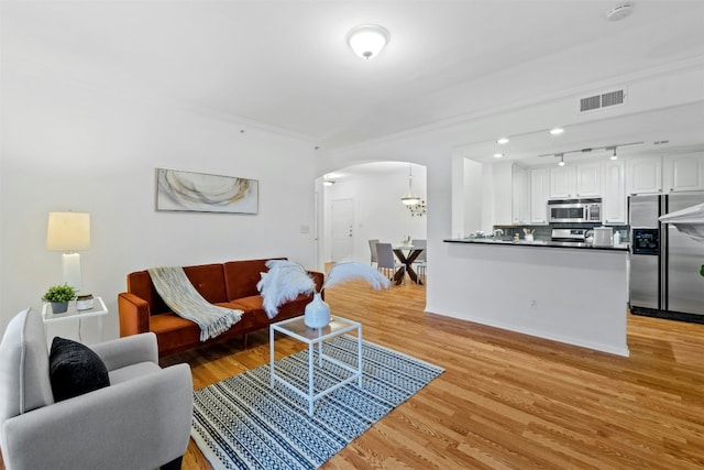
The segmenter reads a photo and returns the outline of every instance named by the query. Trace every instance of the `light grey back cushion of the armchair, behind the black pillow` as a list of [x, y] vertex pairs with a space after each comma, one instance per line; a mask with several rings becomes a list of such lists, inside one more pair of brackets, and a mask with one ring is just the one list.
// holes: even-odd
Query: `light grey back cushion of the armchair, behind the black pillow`
[[44, 324], [30, 308], [8, 324], [0, 343], [0, 423], [54, 403]]

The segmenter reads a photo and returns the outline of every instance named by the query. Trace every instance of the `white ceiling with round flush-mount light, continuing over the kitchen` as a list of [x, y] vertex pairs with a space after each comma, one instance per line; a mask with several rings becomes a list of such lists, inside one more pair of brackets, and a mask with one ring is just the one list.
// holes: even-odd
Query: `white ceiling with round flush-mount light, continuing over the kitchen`
[[[704, 63], [704, 1], [601, 0], [7, 1], [2, 66], [143, 94], [345, 146], [440, 127], [554, 90], [673, 63]], [[345, 34], [392, 34], [372, 61]], [[704, 96], [688, 106], [584, 124], [561, 150], [668, 139], [704, 144]], [[528, 133], [514, 157], [556, 151]], [[490, 155], [494, 143], [464, 142]]]

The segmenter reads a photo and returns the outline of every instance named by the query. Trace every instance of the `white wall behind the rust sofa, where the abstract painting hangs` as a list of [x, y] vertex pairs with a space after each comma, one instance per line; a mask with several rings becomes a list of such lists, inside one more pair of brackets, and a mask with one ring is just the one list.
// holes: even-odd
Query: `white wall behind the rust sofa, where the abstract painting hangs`
[[[46, 70], [2, 74], [0, 331], [62, 282], [61, 253], [45, 248], [50, 211], [91, 215], [84, 282], [110, 310], [107, 338], [118, 336], [129, 272], [271, 256], [315, 266], [314, 231], [301, 233], [314, 227], [309, 142]], [[260, 214], [157, 212], [156, 167], [258, 179]]]

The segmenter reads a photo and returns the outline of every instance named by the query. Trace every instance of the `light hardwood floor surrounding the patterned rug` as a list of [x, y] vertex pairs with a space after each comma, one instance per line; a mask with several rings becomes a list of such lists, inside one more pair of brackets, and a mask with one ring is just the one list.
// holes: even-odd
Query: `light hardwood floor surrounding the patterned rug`
[[[622, 358], [426, 314], [410, 283], [349, 283], [326, 299], [365, 339], [446, 372], [323, 469], [704, 468], [704, 325], [629, 316]], [[266, 363], [266, 332], [249, 341], [164, 363], [188, 362], [202, 387]], [[277, 341], [282, 356], [300, 349]], [[184, 468], [211, 468], [193, 441]]]

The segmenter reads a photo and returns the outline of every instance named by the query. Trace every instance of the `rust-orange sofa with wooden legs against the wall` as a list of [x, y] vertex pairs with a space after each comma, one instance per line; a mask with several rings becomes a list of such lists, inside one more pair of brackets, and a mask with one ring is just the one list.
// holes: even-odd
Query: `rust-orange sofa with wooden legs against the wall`
[[[304, 314], [312, 295], [299, 295], [282, 305], [273, 319], [262, 308], [263, 298], [256, 289], [268, 260], [229, 261], [220, 264], [184, 266], [186, 276], [211, 304], [244, 311], [242, 319], [224, 334], [200, 341], [200, 328], [174, 314], [156, 293], [147, 271], [128, 274], [128, 292], [118, 295], [120, 336], [146, 331], [156, 334], [160, 358], [266, 328], [270, 324]], [[323, 274], [311, 271], [320, 289]]]

